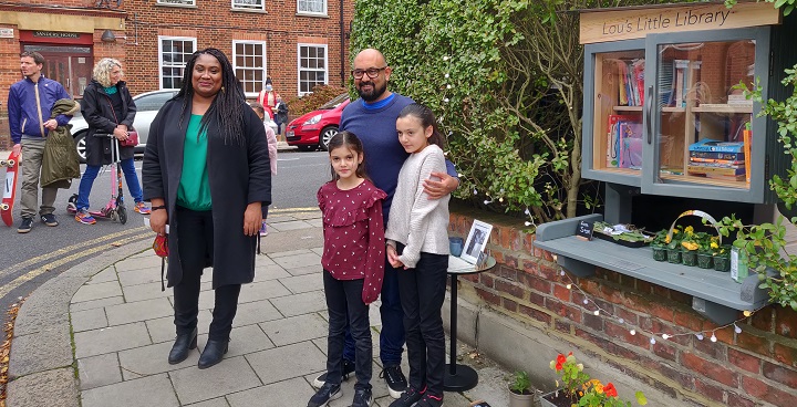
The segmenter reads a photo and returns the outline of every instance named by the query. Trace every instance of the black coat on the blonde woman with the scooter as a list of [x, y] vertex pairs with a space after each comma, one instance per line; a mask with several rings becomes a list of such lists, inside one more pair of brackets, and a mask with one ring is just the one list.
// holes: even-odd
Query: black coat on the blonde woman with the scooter
[[[111, 139], [107, 137], [94, 137], [94, 134], [111, 134], [118, 124], [127, 125], [128, 129], [133, 129], [133, 119], [136, 113], [133, 96], [131, 96], [124, 81], [120, 81], [116, 88], [122, 96], [122, 115], [117, 116], [120, 123], [114, 118], [110, 96], [99, 82], [92, 81], [83, 91], [81, 112], [89, 124], [89, 132], [85, 137], [86, 164], [89, 165], [97, 166], [111, 163]], [[133, 146], [121, 147], [120, 156], [122, 159], [133, 158]]]

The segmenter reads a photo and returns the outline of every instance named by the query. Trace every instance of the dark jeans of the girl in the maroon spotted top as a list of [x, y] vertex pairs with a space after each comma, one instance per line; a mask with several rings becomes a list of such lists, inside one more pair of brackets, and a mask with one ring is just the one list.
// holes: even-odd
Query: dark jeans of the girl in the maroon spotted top
[[354, 372], [358, 382], [354, 389], [371, 388], [371, 324], [369, 306], [362, 301], [362, 289], [365, 280], [337, 280], [324, 270], [324, 294], [329, 312], [329, 336], [327, 337], [327, 380], [340, 384], [343, 375], [343, 344], [345, 342], [346, 322], [356, 346]]

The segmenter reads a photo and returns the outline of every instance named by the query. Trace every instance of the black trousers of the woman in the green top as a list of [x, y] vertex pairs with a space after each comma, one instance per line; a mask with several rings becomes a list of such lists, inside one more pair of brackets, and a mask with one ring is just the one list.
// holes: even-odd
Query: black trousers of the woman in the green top
[[[175, 327], [177, 335], [190, 334], [199, 314], [199, 281], [203, 270], [213, 264], [213, 212], [182, 207], [176, 210], [177, 246], [183, 265], [183, 279], [174, 286]], [[228, 341], [232, 320], [238, 311], [240, 284], [222, 285], [215, 290], [216, 302], [209, 341]]]

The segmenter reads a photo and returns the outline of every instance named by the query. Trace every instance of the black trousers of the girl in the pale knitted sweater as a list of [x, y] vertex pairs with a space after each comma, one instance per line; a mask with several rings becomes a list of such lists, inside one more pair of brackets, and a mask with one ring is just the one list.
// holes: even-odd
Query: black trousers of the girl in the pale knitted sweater
[[[404, 250], [398, 244], [398, 252]], [[448, 255], [421, 252], [414, 269], [398, 271], [404, 310], [410, 386], [443, 396], [445, 332], [441, 309], [445, 299]]]

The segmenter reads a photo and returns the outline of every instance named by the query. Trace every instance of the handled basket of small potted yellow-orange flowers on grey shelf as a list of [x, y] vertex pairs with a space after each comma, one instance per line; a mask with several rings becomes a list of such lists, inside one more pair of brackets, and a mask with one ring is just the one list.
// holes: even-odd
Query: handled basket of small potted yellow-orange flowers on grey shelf
[[[679, 220], [686, 216], [696, 216], [703, 219], [703, 223], [710, 226], [708, 230], [716, 231], [696, 232], [693, 227], [677, 225]], [[673, 221], [669, 230], [660, 230], [651, 241], [651, 251], [656, 261], [669, 261], [684, 265], [696, 265], [701, 269], [727, 271], [729, 265], [729, 249], [722, 243], [720, 227], [714, 218], [702, 210], [687, 210], [681, 213]]]

